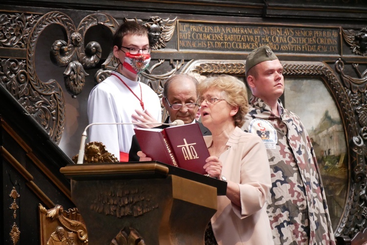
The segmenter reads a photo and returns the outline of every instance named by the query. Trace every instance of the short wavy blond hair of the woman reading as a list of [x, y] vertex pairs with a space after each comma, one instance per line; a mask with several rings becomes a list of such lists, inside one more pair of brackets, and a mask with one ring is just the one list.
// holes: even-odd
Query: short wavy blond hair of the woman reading
[[221, 91], [221, 96], [229, 105], [238, 106], [238, 112], [233, 116], [234, 125], [242, 127], [245, 115], [249, 111], [246, 85], [237, 77], [230, 75], [212, 75], [197, 86], [199, 98], [209, 89]]

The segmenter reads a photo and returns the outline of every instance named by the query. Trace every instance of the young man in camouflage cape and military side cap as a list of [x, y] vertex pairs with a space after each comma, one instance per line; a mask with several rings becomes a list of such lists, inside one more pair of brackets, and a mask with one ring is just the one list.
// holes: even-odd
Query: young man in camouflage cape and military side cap
[[268, 216], [277, 245], [335, 245], [316, 156], [298, 116], [283, 108], [283, 67], [267, 46], [246, 59], [252, 91], [243, 126], [263, 140], [271, 167]]

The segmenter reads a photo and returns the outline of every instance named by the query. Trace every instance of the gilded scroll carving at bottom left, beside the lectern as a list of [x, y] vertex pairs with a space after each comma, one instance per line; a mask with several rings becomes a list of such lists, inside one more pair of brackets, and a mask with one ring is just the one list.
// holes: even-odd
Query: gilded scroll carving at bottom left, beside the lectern
[[46, 210], [39, 205], [41, 220], [41, 245], [46, 244], [88, 244], [88, 233], [77, 208], [64, 210], [56, 205]]

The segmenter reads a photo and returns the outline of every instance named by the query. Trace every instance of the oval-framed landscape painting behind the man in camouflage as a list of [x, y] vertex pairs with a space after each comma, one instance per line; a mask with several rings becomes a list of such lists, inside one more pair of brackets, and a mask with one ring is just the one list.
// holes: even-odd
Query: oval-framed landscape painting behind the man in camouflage
[[296, 113], [313, 142], [333, 229], [348, 186], [345, 134], [336, 104], [321, 79], [285, 79], [284, 107]]

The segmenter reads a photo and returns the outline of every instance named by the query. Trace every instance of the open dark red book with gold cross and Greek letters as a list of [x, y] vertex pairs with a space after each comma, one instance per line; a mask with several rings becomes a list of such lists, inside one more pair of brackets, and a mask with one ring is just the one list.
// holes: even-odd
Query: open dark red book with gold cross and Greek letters
[[141, 151], [153, 161], [206, 174], [203, 166], [210, 155], [197, 123], [134, 131]]

